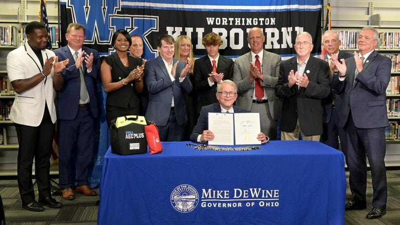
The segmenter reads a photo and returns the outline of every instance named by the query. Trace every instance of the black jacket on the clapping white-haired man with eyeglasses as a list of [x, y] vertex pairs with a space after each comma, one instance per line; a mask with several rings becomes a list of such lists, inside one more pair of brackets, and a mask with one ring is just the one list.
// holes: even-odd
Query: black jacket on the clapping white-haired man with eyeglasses
[[281, 130], [293, 132], [297, 118], [301, 131], [306, 136], [322, 134], [322, 105], [321, 99], [330, 92], [330, 70], [328, 62], [310, 56], [304, 73], [308, 76], [306, 88], [294, 84], [288, 85], [290, 70], [297, 71], [297, 56], [281, 62], [278, 84], [275, 95], [283, 98]]

